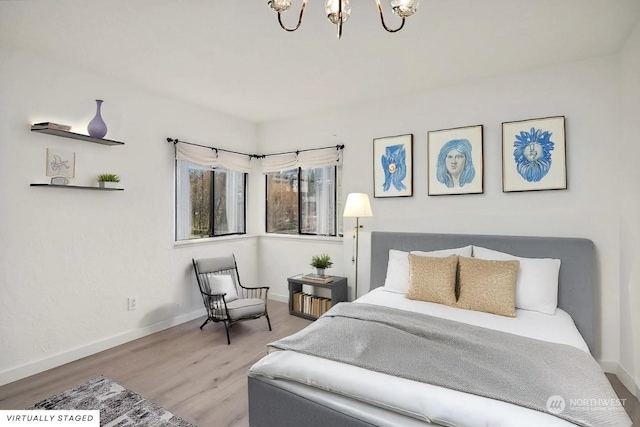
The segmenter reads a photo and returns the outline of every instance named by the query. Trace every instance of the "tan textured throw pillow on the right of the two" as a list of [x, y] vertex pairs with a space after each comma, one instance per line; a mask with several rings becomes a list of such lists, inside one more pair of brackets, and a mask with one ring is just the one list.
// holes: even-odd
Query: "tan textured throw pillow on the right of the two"
[[467, 310], [516, 316], [516, 278], [520, 261], [488, 261], [460, 257], [460, 297], [455, 305]]

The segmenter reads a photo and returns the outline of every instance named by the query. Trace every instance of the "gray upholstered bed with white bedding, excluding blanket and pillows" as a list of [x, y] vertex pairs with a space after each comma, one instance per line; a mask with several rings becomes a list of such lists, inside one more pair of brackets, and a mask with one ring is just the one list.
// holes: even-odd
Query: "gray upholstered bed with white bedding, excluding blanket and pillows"
[[[556, 314], [531, 314], [521, 310], [516, 316], [518, 326], [513, 327], [513, 322], [487, 313], [449, 310], [449, 307], [434, 303], [409, 301], [407, 305], [402, 295], [381, 288], [387, 278], [390, 250], [428, 252], [469, 245], [519, 257], [560, 259]], [[380, 306], [380, 310], [397, 307], [453, 321], [459, 321], [458, 314], [451, 312], [464, 311], [467, 318], [460, 321], [472, 327], [476, 325], [502, 330], [510, 336], [522, 334], [562, 343], [597, 358], [600, 348], [596, 266], [594, 245], [586, 239], [373, 232], [370, 292], [351, 306]], [[604, 377], [601, 372], [600, 375]], [[416, 383], [407, 377], [379, 372], [370, 376], [370, 372], [362, 367], [335, 360], [291, 351], [271, 352], [249, 371], [250, 425], [574, 425], [539, 410], [438, 385]], [[479, 414], [493, 415], [480, 420]], [[513, 420], [518, 420], [517, 424]]]

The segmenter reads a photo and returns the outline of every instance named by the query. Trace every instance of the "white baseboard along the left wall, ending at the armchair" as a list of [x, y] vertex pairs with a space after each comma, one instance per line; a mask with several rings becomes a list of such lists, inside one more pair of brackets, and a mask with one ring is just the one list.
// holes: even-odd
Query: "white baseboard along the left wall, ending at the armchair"
[[0, 372], [0, 386], [206, 316], [204, 308]]

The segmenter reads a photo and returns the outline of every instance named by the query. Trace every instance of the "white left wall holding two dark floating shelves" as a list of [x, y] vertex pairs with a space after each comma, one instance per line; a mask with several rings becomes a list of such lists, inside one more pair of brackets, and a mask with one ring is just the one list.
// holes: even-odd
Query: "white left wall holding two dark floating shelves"
[[[174, 246], [166, 142], [254, 152], [255, 124], [27, 53], [0, 50], [0, 64], [0, 384], [203, 315], [192, 257], [233, 251], [243, 282], [256, 282], [255, 237]], [[29, 131], [54, 121], [86, 132], [96, 98], [107, 138], [124, 146]], [[125, 191], [30, 187], [47, 181], [47, 148], [76, 153], [74, 184], [113, 172]]]

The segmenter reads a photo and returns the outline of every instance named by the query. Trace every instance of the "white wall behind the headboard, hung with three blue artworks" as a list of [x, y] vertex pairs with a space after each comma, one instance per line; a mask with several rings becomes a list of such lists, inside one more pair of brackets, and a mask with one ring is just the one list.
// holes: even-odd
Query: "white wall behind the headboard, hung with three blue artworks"
[[[633, 348], [631, 342], [621, 343], [619, 333], [623, 221], [620, 206], [628, 194], [620, 189], [616, 178], [621, 162], [629, 161], [625, 153], [638, 150], [633, 147], [636, 138], [621, 139], [619, 67], [617, 56], [605, 57], [266, 123], [260, 125], [259, 144], [262, 151], [265, 147], [292, 149], [300, 147], [301, 141], [310, 141], [308, 145], [313, 146], [317, 145], [319, 135], [337, 134], [338, 140], [346, 145], [344, 194], [357, 191], [372, 195], [372, 139], [414, 135], [414, 196], [372, 199], [374, 217], [363, 221], [361, 289], [369, 276], [366, 240], [371, 230], [592, 239], [597, 247], [602, 285], [601, 359], [605, 365], [611, 362], [615, 367], [620, 360], [621, 345], [624, 353]], [[637, 84], [637, 68], [628, 73], [628, 79], [633, 81], [629, 85]], [[637, 121], [637, 104], [635, 108]], [[501, 123], [555, 115], [566, 116], [568, 190], [503, 193]], [[427, 196], [427, 131], [477, 124], [484, 125], [484, 194]], [[630, 179], [638, 184], [637, 175]], [[629, 188], [637, 200], [634, 186]], [[628, 216], [629, 221], [638, 215], [637, 201], [633, 203], [629, 214], [624, 216]], [[345, 230], [352, 226], [351, 221], [345, 221]], [[350, 234], [347, 233], [344, 242], [344, 268], [352, 284]], [[637, 244], [637, 239], [633, 242]], [[314, 245], [313, 242], [307, 244]], [[261, 253], [281, 249], [280, 244], [261, 242]], [[301, 251], [299, 247], [296, 250]], [[631, 261], [626, 262], [629, 268]], [[291, 269], [289, 261], [277, 265]], [[278, 270], [277, 265], [271, 268]], [[637, 289], [637, 283], [634, 285]], [[623, 330], [632, 324], [631, 319], [622, 319], [622, 322]], [[637, 345], [637, 332], [633, 340]], [[625, 367], [631, 370], [631, 363], [626, 361]]]

